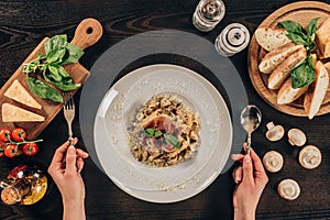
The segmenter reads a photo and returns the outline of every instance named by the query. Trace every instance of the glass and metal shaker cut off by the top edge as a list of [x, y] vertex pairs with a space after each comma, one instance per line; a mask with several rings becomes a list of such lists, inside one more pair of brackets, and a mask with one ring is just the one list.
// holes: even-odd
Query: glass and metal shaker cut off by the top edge
[[224, 13], [221, 0], [200, 0], [193, 15], [193, 24], [199, 31], [211, 31], [223, 19]]

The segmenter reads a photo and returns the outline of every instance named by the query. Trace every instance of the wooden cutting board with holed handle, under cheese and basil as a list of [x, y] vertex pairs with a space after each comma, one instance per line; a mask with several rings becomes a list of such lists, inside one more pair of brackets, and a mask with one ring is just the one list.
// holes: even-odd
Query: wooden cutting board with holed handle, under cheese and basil
[[[75, 44], [82, 50], [87, 48], [88, 46], [94, 45], [97, 43], [100, 37], [102, 36], [102, 25], [99, 21], [95, 19], [85, 19], [82, 20], [76, 29], [75, 35], [72, 44]], [[37, 53], [44, 54], [44, 44], [50, 40], [50, 37], [45, 37], [35, 48], [34, 51], [28, 56], [28, 58], [23, 62], [23, 64], [31, 62], [32, 59], [36, 58]], [[26, 75], [22, 72], [23, 64], [15, 70], [15, 73], [9, 78], [9, 80], [4, 84], [4, 86], [0, 90], [0, 105], [7, 102], [20, 108], [26, 109], [29, 111], [35, 112], [40, 116], [45, 117], [44, 122], [3, 122], [2, 117], [0, 119], [0, 129], [8, 128], [14, 129], [21, 127], [25, 129], [28, 133], [26, 140], [34, 140], [36, 139], [40, 133], [48, 125], [48, 123], [55, 118], [55, 116], [62, 110], [63, 103], [57, 103], [50, 100], [44, 100], [36, 97], [32, 91], [30, 91]], [[84, 81], [89, 76], [89, 70], [87, 70], [82, 65], [79, 63], [70, 64], [64, 66], [67, 73], [72, 76], [76, 84], [84, 84]], [[42, 105], [41, 110], [36, 110], [34, 108], [26, 107], [22, 103], [19, 103], [10, 98], [4, 96], [6, 90], [11, 86], [14, 79], [18, 79], [26, 90], [35, 98], [35, 100]], [[70, 91], [74, 95], [77, 90]], [[0, 108], [1, 112], [1, 108]], [[2, 112], [1, 112], [2, 116]]]

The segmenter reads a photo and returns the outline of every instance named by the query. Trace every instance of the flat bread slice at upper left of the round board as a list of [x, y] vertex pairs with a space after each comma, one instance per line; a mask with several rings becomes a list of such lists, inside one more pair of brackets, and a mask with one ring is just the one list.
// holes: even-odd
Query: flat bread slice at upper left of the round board
[[256, 42], [267, 52], [292, 42], [286, 34], [287, 31], [285, 29], [271, 28], [258, 28], [254, 32]]

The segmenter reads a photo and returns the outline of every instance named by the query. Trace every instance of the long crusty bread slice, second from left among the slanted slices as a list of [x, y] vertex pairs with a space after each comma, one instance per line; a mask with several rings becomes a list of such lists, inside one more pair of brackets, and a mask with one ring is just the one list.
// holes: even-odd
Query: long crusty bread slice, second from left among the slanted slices
[[290, 70], [299, 64], [307, 56], [305, 47], [299, 48], [297, 52], [293, 53], [287, 59], [279, 64], [268, 78], [270, 89], [279, 89], [283, 82], [290, 75]]

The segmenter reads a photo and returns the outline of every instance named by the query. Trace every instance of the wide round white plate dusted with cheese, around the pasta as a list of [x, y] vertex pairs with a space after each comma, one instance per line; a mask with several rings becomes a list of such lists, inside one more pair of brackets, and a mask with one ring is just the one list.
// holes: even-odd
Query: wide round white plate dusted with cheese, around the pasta
[[[136, 161], [127, 142], [131, 112], [157, 94], [175, 94], [200, 116], [200, 145], [189, 160], [170, 167]], [[218, 90], [185, 67], [167, 64], [139, 68], [117, 81], [95, 119], [95, 146], [103, 170], [122, 190], [152, 202], [174, 202], [204, 190], [221, 173], [232, 144], [232, 124]]]

